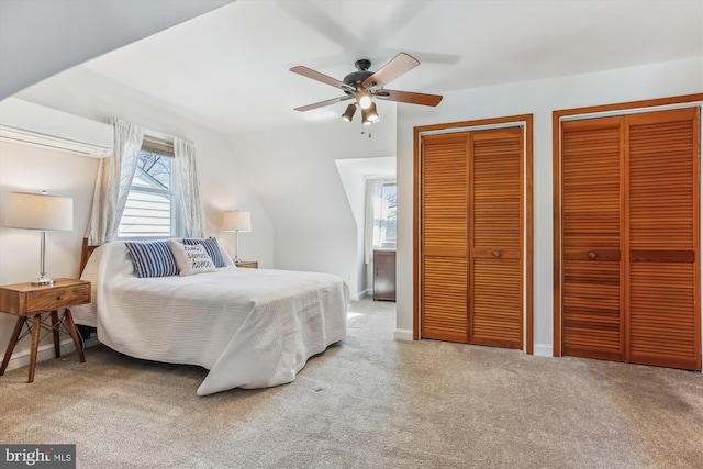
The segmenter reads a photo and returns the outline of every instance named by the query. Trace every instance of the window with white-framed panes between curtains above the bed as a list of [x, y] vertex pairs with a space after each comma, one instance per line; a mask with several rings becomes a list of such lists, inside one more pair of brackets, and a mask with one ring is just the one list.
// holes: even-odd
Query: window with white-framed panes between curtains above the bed
[[174, 147], [170, 143], [144, 137], [118, 237], [176, 236], [178, 230], [172, 156]]

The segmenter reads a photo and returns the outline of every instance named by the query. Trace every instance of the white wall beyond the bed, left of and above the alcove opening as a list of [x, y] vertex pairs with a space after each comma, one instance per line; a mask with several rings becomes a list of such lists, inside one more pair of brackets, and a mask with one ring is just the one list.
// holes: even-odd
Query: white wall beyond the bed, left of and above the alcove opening
[[357, 224], [335, 161], [395, 154], [395, 104], [379, 103], [378, 111], [381, 122], [366, 134], [358, 119], [335, 119], [231, 136], [275, 221], [277, 269], [334, 273], [352, 293], [360, 291]]

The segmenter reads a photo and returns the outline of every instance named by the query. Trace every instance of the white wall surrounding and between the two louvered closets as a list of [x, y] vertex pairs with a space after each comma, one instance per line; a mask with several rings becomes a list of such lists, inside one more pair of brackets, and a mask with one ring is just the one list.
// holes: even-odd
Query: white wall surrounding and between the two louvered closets
[[413, 127], [534, 114], [535, 353], [553, 347], [551, 112], [554, 110], [691, 94], [703, 91], [703, 57], [598, 74], [446, 93], [432, 110], [399, 108], [397, 337], [413, 328]]

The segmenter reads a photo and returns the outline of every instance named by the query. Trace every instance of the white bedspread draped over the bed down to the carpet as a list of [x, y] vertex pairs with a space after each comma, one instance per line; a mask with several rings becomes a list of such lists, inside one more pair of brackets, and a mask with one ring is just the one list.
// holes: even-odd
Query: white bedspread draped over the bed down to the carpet
[[207, 368], [199, 395], [291, 382], [346, 336], [348, 288], [328, 273], [224, 267], [137, 278], [124, 243], [113, 242], [81, 278], [92, 303], [71, 309], [76, 323], [122, 354]]

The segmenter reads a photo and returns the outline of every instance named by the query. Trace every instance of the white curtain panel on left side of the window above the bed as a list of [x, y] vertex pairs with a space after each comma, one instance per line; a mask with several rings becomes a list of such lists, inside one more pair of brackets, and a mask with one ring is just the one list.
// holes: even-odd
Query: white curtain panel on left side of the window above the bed
[[102, 158], [98, 168], [86, 233], [90, 245], [104, 244], [118, 236], [144, 139], [144, 129], [136, 124], [116, 118], [110, 123], [114, 127], [114, 152]]

